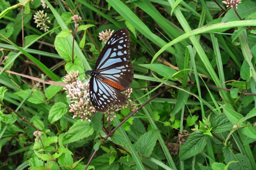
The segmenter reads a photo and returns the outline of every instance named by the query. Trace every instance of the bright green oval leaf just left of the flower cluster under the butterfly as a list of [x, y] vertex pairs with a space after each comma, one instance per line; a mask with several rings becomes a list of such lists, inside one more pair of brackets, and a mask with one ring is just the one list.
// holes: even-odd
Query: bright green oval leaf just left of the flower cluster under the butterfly
[[49, 111], [48, 120], [50, 124], [56, 122], [64, 116], [68, 111], [67, 105], [62, 102], [55, 103]]

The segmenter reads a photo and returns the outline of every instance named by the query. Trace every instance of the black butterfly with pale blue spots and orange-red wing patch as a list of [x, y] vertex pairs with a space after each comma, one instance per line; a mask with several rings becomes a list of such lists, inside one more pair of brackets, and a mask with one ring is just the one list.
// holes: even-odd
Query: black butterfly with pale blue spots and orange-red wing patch
[[130, 34], [126, 28], [117, 30], [97, 59], [95, 70], [86, 72], [90, 78], [90, 100], [99, 112], [111, 105], [124, 105], [122, 91], [131, 86], [134, 71], [130, 62]]

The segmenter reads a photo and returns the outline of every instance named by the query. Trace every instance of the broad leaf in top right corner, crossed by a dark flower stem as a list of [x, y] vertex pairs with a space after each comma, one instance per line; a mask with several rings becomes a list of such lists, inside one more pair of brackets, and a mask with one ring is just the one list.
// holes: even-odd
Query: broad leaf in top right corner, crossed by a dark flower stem
[[[254, 0], [243, 0], [242, 3], [239, 4], [238, 8], [236, 9], [237, 13], [243, 19], [246, 17], [248, 14], [255, 12], [256, 10], [256, 2]], [[239, 17], [237, 17], [235, 11], [233, 8], [231, 8], [223, 19], [221, 20], [221, 23], [227, 23], [230, 21], [238, 21]]]

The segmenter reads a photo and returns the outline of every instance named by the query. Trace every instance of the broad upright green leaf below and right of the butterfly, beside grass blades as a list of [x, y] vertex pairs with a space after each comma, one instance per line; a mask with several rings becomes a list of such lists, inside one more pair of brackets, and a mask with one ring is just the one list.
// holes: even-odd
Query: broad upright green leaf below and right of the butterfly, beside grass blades
[[149, 157], [154, 149], [157, 142], [159, 130], [150, 130], [143, 134], [135, 144], [135, 149], [140, 153], [141, 156]]

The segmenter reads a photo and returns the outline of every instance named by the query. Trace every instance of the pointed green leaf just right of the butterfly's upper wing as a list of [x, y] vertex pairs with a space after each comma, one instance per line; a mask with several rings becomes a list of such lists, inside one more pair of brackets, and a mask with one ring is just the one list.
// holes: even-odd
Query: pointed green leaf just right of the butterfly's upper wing
[[[139, 64], [139, 65], [150, 69], [150, 64]], [[157, 72], [158, 74], [160, 74], [163, 77], [169, 77], [170, 75], [177, 73], [177, 71], [175, 71], [175, 69], [170, 68], [167, 65], [163, 65], [163, 64], [152, 64], [152, 71]], [[170, 79], [175, 80], [175, 81], [177, 80], [172, 77]]]

